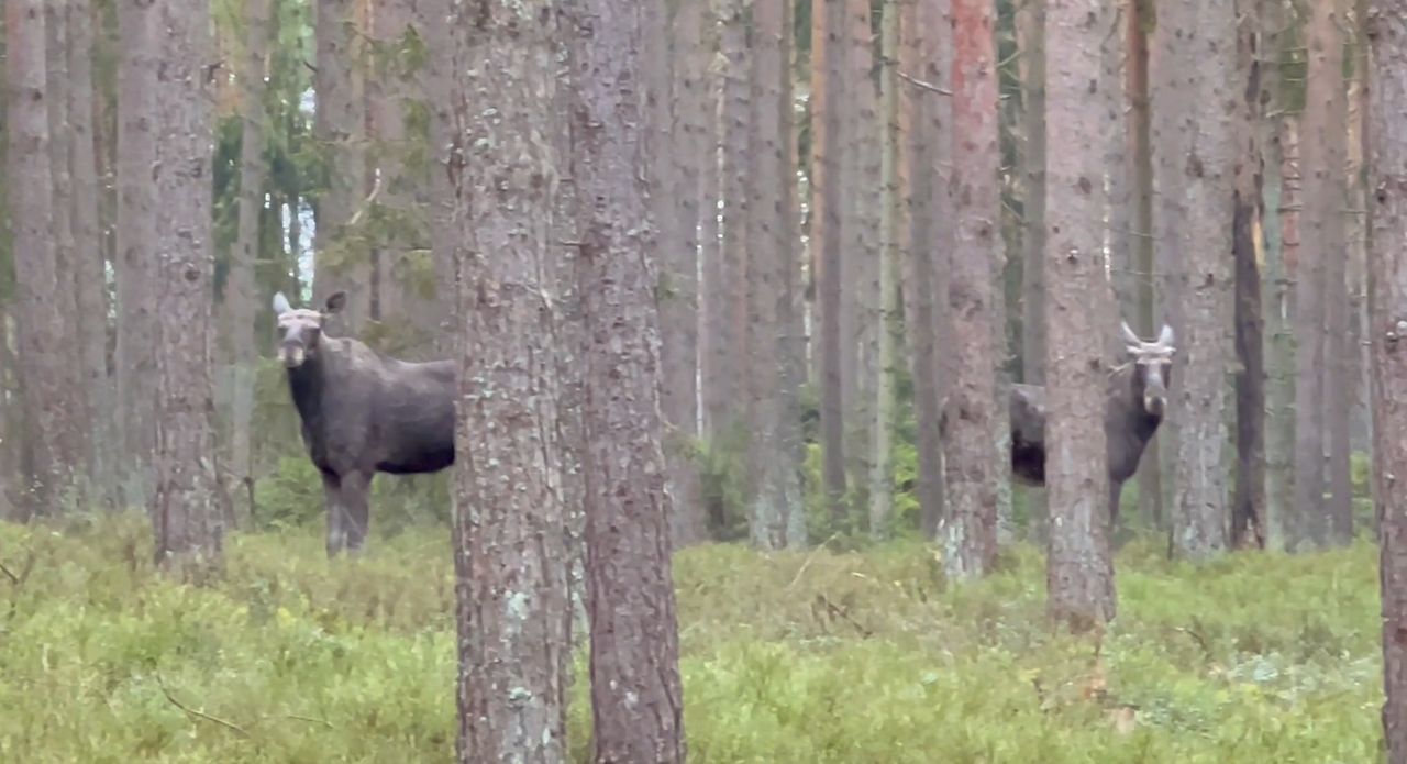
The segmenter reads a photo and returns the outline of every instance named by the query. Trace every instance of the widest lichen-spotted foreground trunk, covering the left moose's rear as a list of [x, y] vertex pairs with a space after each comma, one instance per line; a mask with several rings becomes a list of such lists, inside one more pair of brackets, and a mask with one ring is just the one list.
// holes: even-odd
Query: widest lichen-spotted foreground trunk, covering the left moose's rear
[[[470, 14], [474, 14], [474, 18]], [[519, 23], [519, 14], [546, 20]], [[561, 533], [557, 291], [556, 24], [546, 0], [459, 8], [470, 72], [452, 96], [459, 241], [454, 570], [459, 761], [566, 758], [571, 656]], [[495, 120], [476, 115], [495, 104]], [[499, 151], [476, 152], [476, 145]], [[507, 604], [507, 606], [505, 606]]]

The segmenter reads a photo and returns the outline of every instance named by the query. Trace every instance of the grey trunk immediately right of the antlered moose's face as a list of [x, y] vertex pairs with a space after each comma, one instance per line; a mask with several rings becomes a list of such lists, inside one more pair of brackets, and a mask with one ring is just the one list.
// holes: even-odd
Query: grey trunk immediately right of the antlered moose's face
[[[1164, 424], [1178, 419], [1172, 547], [1190, 559], [1227, 546], [1227, 485], [1223, 470], [1227, 395], [1224, 374], [1233, 357], [1231, 225], [1235, 113], [1244, 75], [1235, 68], [1235, 10], [1231, 0], [1159, 8], [1159, 75], [1152, 110], [1158, 193], [1165, 217], [1158, 245], [1182, 262], [1179, 388]], [[1188, 42], [1193, 39], [1196, 42]], [[1180, 376], [1180, 380], [1178, 378]], [[1162, 431], [1159, 429], [1159, 435]]]

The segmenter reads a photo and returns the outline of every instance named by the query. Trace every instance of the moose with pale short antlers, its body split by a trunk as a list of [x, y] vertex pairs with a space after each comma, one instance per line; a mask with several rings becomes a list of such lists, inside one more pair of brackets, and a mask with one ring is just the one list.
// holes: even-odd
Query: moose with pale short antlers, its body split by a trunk
[[[1123, 338], [1130, 363], [1114, 367], [1104, 388], [1110, 529], [1119, 519], [1119, 495], [1124, 483], [1138, 471], [1144, 447], [1162, 424], [1175, 352], [1172, 328], [1166, 324], [1157, 340], [1144, 342], [1126, 321]], [[1012, 474], [1027, 485], [1045, 485], [1045, 388], [1013, 384], [1010, 418]]]

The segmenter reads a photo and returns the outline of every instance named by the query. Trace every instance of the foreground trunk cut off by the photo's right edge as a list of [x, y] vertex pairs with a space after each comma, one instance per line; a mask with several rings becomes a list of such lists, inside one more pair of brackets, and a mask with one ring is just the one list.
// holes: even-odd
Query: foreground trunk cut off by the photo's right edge
[[1373, 189], [1369, 329], [1373, 367], [1373, 483], [1380, 522], [1383, 733], [1389, 764], [1407, 764], [1407, 8], [1370, 0]]

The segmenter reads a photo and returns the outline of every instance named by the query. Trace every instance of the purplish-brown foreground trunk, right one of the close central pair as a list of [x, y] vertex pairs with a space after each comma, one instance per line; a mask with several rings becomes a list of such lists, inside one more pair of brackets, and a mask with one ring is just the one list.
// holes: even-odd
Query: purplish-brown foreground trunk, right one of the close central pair
[[585, 350], [594, 758], [684, 761], [670, 494], [660, 446], [658, 266], [642, 149], [642, 14], [580, 0], [573, 139]]

